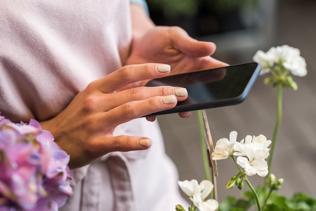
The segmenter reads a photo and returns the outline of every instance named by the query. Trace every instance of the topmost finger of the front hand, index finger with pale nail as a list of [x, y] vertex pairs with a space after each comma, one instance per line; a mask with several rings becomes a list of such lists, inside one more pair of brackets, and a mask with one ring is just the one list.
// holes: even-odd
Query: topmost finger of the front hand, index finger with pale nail
[[130, 83], [145, 79], [162, 78], [170, 73], [170, 66], [165, 64], [127, 65], [119, 70], [91, 83], [103, 93], [113, 93]]

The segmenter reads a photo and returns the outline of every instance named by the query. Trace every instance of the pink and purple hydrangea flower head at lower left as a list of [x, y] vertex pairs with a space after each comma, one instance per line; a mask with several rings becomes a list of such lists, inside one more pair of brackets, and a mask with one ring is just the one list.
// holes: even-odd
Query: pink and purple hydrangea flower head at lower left
[[69, 195], [69, 155], [40, 124], [0, 116], [0, 210], [58, 210]]

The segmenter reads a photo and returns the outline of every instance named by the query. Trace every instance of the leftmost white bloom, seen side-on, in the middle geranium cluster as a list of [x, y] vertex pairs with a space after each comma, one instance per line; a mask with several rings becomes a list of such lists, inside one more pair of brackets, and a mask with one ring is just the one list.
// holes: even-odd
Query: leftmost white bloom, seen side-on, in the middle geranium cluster
[[212, 152], [213, 160], [227, 159], [234, 153], [234, 144], [236, 143], [237, 132], [232, 131], [229, 134], [229, 140], [227, 138], [221, 138], [216, 142], [214, 152]]

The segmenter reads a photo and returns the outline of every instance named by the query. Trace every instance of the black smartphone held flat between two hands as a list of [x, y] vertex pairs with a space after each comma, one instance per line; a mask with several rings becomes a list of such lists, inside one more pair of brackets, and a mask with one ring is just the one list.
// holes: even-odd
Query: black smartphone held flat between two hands
[[145, 86], [185, 87], [188, 90], [188, 98], [178, 102], [173, 109], [147, 116], [239, 104], [248, 96], [260, 71], [261, 66], [251, 62], [153, 79]]

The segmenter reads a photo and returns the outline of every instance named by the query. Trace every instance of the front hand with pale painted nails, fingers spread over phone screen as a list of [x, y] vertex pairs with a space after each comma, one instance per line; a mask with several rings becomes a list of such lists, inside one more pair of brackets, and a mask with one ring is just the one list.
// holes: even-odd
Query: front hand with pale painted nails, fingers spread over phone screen
[[41, 122], [59, 146], [70, 154], [70, 168], [87, 165], [111, 151], [147, 149], [147, 137], [113, 136], [125, 122], [175, 107], [187, 98], [181, 87], [134, 87], [139, 80], [160, 78], [170, 73], [169, 65], [129, 65], [91, 82], [56, 117]]

